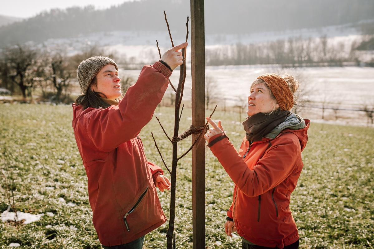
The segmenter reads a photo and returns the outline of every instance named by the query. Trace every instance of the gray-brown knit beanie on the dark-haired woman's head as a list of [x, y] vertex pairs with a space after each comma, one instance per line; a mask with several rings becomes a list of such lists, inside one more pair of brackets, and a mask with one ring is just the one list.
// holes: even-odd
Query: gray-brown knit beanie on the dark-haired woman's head
[[83, 94], [86, 94], [88, 86], [91, 84], [93, 78], [96, 74], [106, 65], [114, 65], [118, 71], [118, 66], [114, 60], [104, 57], [104, 56], [95, 56], [90, 57], [82, 62], [78, 66], [77, 77], [80, 85], [80, 89]]

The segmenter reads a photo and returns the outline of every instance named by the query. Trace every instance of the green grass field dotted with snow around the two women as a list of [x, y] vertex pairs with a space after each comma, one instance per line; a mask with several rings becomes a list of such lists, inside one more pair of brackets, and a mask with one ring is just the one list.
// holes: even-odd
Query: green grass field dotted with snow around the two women
[[[12, 179], [7, 181], [12, 183], [10, 187], [1, 181], [0, 212], [8, 206], [4, 189], [12, 189], [19, 211], [54, 214], [27, 225], [0, 222], [1, 248], [12, 242], [20, 243], [21, 248], [100, 248], [91, 221], [87, 177], [71, 127], [71, 111], [71, 106], [0, 105], [0, 168], [6, 174], [1, 177]], [[156, 113], [162, 113], [157, 116], [171, 135], [174, 110], [157, 108]], [[180, 133], [191, 124], [190, 113], [190, 109], [184, 110]], [[244, 134], [237, 122], [239, 114], [216, 112], [213, 118], [222, 120], [230, 140], [239, 146]], [[151, 131], [170, 165], [171, 145], [155, 118], [141, 132], [148, 160], [162, 165]], [[303, 152], [304, 169], [291, 197], [300, 248], [374, 247], [373, 137], [372, 128], [311, 124]], [[190, 143], [190, 139], [180, 143], [179, 155]], [[232, 181], [206, 150], [207, 248], [241, 248], [240, 238], [227, 237], [223, 228], [232, 190]], [[61, 204], [60, 197], [76, 206]], [[170, 194], [159, 192], [159, 197], [168, 215]], [[188, 154], [177, 171], [177, 248], [192, 248], [191, 199]], [[148, 234], [144, 248], [165, 248], [166, 230], [167, 223]], [[222, 244], [215, 245], [217, 241]]]

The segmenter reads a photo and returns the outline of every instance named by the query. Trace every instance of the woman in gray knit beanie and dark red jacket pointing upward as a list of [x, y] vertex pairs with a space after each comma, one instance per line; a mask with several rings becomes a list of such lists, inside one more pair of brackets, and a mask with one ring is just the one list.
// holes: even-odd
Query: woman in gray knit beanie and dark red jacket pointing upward
[[166, 221], [156, 187], [163, 192], [171, 184], [147, 160], [139, 133], [161, 102], [172, 70], [183, 64], [179, 50], [187, 45], [145, 65], [120, 100], [112, 59], [91, 57], [77, 69], [82, 95], [73, 104], [72, 124], [88, 178], [93, 225], [104, 248], [142, 249], [145, 234]]

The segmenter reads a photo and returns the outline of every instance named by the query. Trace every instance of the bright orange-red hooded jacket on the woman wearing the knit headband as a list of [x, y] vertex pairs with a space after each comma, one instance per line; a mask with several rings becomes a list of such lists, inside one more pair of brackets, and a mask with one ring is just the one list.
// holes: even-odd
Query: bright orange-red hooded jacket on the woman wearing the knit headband
[[244, 138], [239, 152], [227, 138], [211, 146], [235, 183], [227, 215], [236, 232], [255, 245], [283, 248], [299, 239], [289, 201], [303, 168], [301, 151], [308, 140], [309, 120], [305, 122], [301, 130], [285, 129], [250, 146]]

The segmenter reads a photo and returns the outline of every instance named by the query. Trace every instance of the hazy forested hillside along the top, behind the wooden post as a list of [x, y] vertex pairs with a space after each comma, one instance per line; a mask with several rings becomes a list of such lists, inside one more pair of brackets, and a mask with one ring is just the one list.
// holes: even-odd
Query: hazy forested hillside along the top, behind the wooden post
[[[171, 28], [190, 14], [188, 0], [141, 0], [96, 10], [92, 6], [53, 9], [0, 27], [0, 46], [69, 38], [91, 32], [165, 31], [163, 10]], [[373, 0], [206, 0], [205, 31], [240, 34], [285, 29], [318, 28], [373, 19]], [[176, 31], [175, 31], [176, 32]]]

